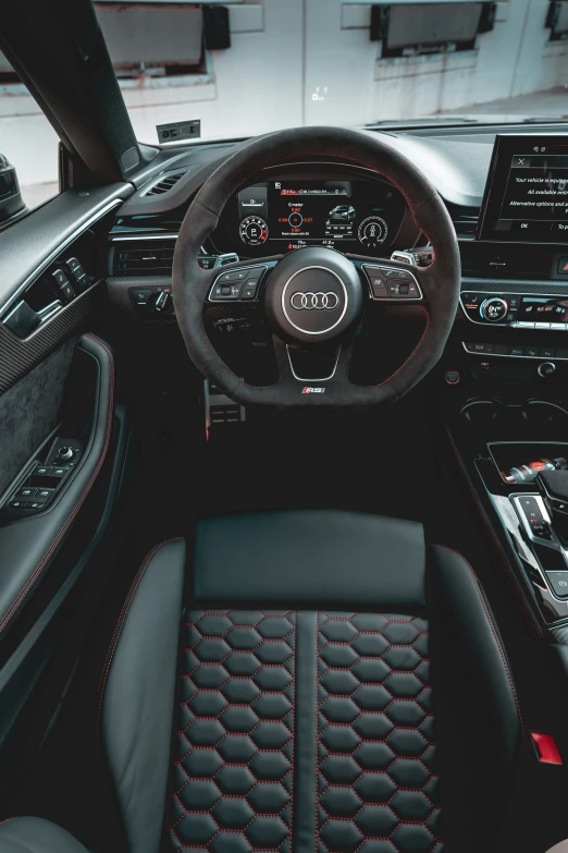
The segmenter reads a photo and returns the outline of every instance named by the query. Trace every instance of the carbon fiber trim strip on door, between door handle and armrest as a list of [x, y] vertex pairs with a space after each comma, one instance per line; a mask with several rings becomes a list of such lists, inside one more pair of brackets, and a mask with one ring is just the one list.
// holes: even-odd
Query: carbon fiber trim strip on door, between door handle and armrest
[[0, 324], [0, 393], [15, 385], [63, 341], [77, 334], [99, 307], [103, 293], [100, 284], [91, 288], [27, 339], [17, 338]]

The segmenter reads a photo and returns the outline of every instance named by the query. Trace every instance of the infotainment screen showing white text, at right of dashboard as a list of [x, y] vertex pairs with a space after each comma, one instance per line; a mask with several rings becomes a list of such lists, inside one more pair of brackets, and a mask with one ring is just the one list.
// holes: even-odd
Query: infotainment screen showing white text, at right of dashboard
[[568, 242], [568, 134], [496, 137], [478, 237]]

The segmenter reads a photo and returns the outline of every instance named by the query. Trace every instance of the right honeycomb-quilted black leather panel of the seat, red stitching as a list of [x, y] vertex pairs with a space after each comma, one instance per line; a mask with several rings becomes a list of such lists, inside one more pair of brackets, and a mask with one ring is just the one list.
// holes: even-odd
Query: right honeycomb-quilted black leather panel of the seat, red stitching
[[420, 617], [318, 613], [321, 850], [437, 850], [428, 639]]

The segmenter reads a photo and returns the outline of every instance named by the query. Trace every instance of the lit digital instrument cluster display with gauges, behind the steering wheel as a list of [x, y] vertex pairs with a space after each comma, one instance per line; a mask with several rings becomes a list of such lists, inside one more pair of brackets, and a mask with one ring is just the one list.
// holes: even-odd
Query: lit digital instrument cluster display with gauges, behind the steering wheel
[[[238, 242], [254, 253], [309, 245], [380, 255], [394, 242], [405, 215], [386, 183], [273, 180], [237, 194]], [[236, 242], [236, 241], [235, 241]]]

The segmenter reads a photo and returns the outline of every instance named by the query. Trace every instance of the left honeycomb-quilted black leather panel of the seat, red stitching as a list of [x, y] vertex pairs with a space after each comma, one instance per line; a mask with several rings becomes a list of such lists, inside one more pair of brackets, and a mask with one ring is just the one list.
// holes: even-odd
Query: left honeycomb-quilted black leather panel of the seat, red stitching
[[190, 610], [184, 635], [174, 848], [287, 853], [295, 613]]

